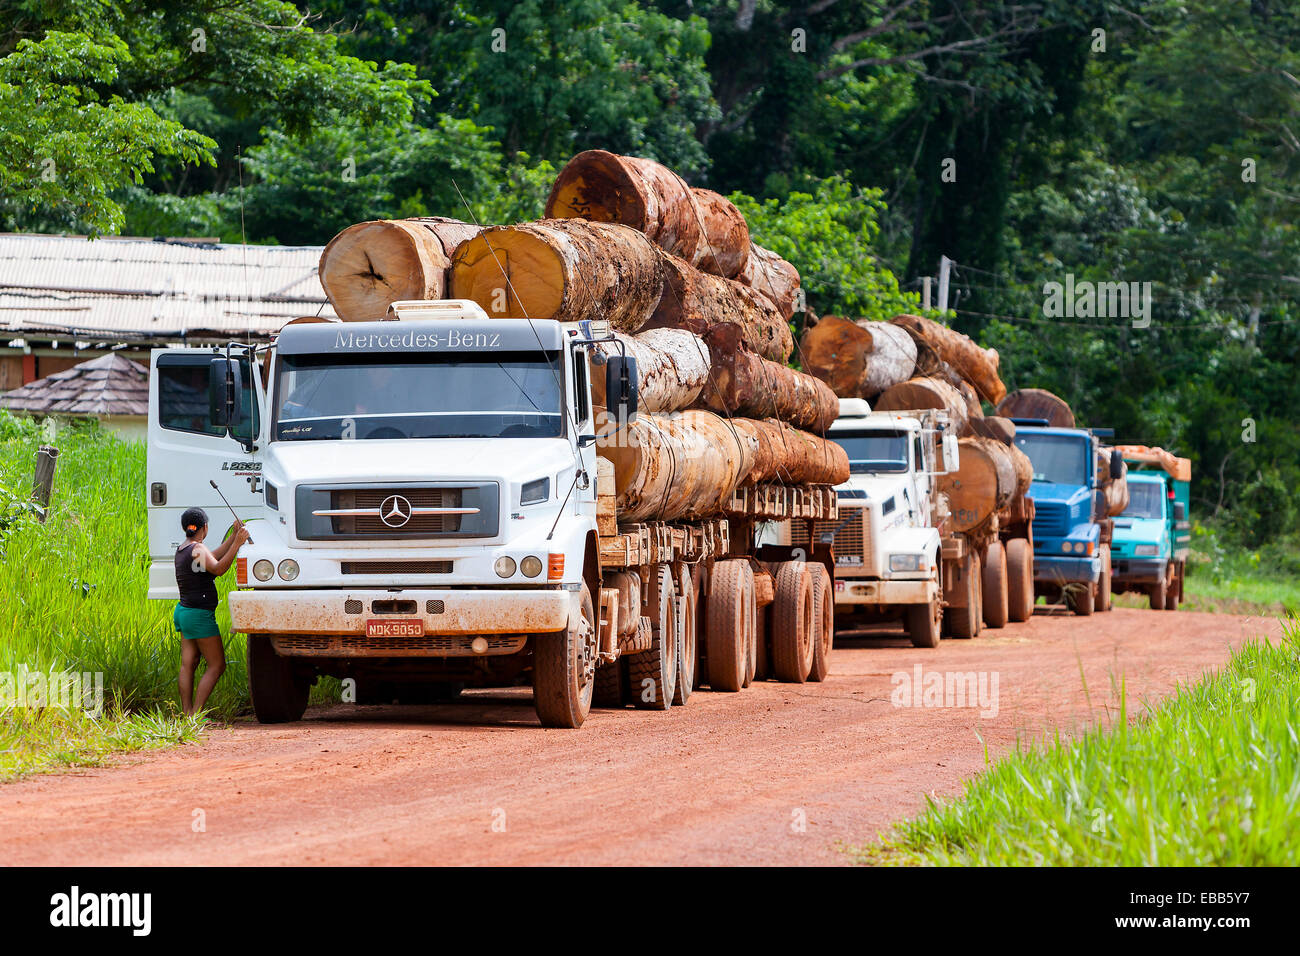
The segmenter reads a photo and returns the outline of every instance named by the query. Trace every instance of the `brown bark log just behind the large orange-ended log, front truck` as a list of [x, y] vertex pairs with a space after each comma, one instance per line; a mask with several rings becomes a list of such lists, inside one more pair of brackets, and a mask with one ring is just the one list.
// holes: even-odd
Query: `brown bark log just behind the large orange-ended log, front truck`
[[647, 329], [689, 329], [705, 334], [719, 323], [736, 323], [745, 345], [764, 359], [785, 362], [794, 351], [790, 325], [764, 295], [729, 278], [710, 276], [677, 256], [660, 252], [663, 294]]

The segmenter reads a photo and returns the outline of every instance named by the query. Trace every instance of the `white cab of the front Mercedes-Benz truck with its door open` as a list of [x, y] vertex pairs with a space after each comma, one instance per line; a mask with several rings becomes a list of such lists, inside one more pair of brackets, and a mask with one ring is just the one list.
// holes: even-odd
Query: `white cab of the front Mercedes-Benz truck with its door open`
[[390, 315], [152, 354], [150, 597], [176, 598], [181, 511], [228, 532], [224, 492], [252, 535], [229, 604], [264, 721], [300, 717], [318, 674], [523, 683], [552, 644], [530, 639], [575, 628], [594, 671], [589, 324], [463, 300]]

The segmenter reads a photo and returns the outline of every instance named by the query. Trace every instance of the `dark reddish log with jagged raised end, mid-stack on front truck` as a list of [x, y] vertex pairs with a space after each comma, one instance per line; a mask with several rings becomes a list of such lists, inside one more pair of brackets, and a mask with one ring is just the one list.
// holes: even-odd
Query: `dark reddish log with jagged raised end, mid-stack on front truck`
[[703, 341], [712, 363], [699, 395], [703, 407], [723, 415], [780, 419], [820, 434], [838, 418], [840, 399], [826, 382], [755, 355], [738, 325], [715, 325]]

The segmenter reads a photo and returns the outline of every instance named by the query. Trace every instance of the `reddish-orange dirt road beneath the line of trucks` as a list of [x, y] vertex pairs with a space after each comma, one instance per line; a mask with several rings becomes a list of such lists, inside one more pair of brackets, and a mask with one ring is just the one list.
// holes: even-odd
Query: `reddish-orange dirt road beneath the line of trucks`
[[[1098, 627], [1098, 623], [1102, 623]], [[1017, 737], [1071, 732], [1221, 665], [1275, 620], [1039, 613], [916, 650], [840, 639], [824, 684], [699, 692], [543, 731], [526, 691], [339, 705], [202, 747], [0, 787], [6, 864], [836, 864]], [[985, 706], [896, 708], [890, 675], [997, 676]], [[1084, 687], [1084, 680], [1087, 687]], [[991, 700], [985, 698], [985, 704]], [[1131, 708], [1134, 710], [1136, 708]], [[202, 822], [203, 829], [199, 830]]]

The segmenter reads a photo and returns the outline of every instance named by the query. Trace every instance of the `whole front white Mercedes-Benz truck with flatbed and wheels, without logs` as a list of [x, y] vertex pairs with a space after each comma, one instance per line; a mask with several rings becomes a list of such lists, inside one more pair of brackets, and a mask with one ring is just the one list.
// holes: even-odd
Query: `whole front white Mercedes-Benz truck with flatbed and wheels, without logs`
[[[831, 549], [779, 540], [837, 520], [835, 488], [788, 463], [784, 483], [738, 481], [745, 438], [728, 484], [692, 488], [673, 459], [675, 477], [640, 475], [634, 509], [615, 471], [641, 451], [624, 460], [619, 437], [671, 436], [638, 419], [616, 346], [593, 323], [417, 300], [384, 321], [295, 320], [272, 346], [155, 350], [150, 597], [177, 597], [183, 509], [228, 532], [216, 481], [252, 532], [229, 605], [264, 723], [299, 719], [318, 675], [355, 682], [358, 702], [532, 685], [546, 727], [581, 726], [593, 702], [663, 710], [705, 683], [824, 678]], [[688, 411], [688, 432], [692, 415], [740, 446], [742, 423]], [[680, 518], [638, 516], [670, 497]]]

